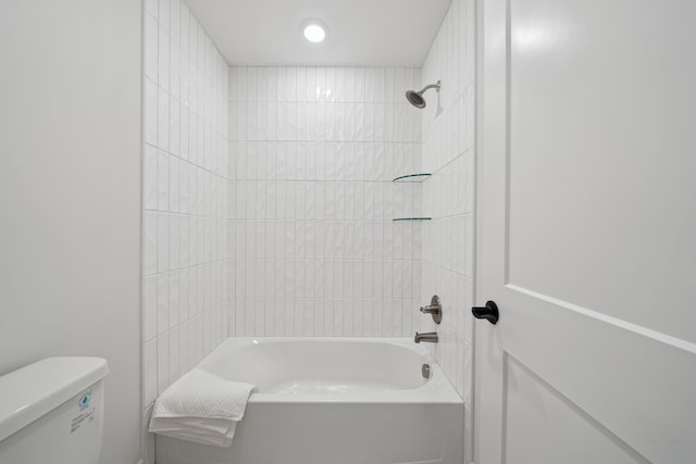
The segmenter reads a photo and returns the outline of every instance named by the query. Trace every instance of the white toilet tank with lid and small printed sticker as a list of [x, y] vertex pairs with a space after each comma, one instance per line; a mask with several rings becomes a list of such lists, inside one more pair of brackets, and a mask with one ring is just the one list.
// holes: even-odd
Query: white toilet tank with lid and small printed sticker
[[0, 464], [97, 464], [100, 358], [48, 358], [0, 377]]

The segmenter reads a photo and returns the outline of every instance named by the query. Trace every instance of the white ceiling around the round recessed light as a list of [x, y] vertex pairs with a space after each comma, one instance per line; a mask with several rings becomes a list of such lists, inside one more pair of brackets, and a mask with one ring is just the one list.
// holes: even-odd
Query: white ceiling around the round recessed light
[[[451, 0], [185, 0], [229, 64], [420, 67]], [[301, 23], [328, 26], [322, 43]]]

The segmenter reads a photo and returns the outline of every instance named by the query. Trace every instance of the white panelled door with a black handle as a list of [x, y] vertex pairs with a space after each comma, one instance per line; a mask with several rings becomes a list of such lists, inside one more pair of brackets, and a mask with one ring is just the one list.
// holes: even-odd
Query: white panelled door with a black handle
[[476, 464], [696, 463], [696, 1], [477, 14]]

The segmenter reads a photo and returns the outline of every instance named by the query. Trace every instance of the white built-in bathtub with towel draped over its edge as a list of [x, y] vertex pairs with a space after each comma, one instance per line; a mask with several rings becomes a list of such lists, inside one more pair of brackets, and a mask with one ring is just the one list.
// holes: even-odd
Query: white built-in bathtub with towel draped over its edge
[[229, 448], [158, 436], [158, 464], [462, 463], [462, 399], [410, 339], [229, 338], [199, 367], [259, 392]]

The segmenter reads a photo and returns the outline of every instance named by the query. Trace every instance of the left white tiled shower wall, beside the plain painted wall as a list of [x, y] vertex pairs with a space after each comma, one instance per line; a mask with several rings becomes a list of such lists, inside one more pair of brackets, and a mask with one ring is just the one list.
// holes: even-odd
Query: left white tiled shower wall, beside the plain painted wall
[[[144, 430], [227, 336], [228, 66], [181, 0], [145, 2]], [[146, 435], [146, 463], [153, 440]]]

